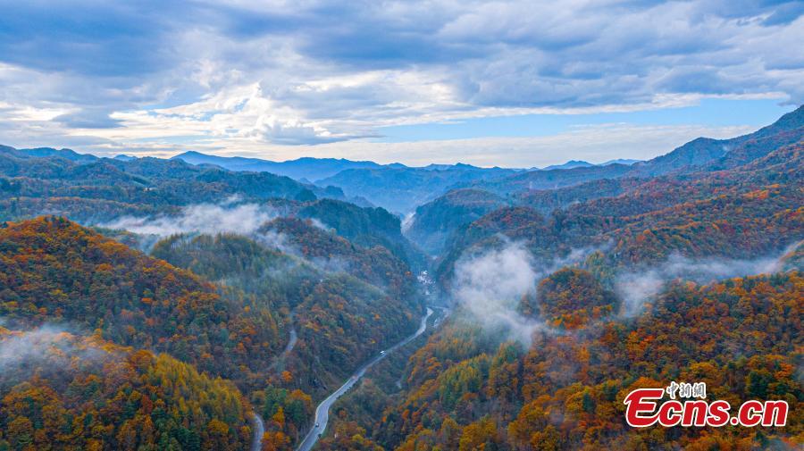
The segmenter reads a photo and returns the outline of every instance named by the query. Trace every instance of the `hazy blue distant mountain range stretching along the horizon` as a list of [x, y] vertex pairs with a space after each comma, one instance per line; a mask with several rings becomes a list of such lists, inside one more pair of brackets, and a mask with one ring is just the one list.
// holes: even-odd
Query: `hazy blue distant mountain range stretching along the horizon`
[[[770, 148], [796, 142], [804, 126], [802, 118], [804, 111], [800, 107], [754, 133], [730, 139], [697, 138], [666, 155], [659, 155], [648, 161], [620, 159], [592, 164], [571, 160], [540, 170], [480, 168], [462, 163], [431, 164], [416, 168], [399, 163], [382, 165], [332, 158], [299, 158], [287, 162], [272, 162], [258, 158], [205, 155], [192, 151], [176, 155], [172, 160], [232, 172], [270, 172], [297, 180], [318, 193], [328, 189], [329, 194], [323, 196], [348, 198], [361, 205], [377, 205], [390, 212], [406, 214], [456, 188], [482, 188], [501, 196], [527, 190], [571, 187], [591, 180], [655, 177], [694, 171], [708, 165], [728, 167], [746, 163], [758, 155], [766, 154]], [[43, 147], [18, 150], [3, 146], [0, 150], [18, 158], [54, 157], [77, 164], [109, 162], [109, 159], [78, 154], [71, 149]], [[136, 159], [119, 155], [112, 162], [134, 161]], [[320, 188], [313, 188], [314, 186]]]

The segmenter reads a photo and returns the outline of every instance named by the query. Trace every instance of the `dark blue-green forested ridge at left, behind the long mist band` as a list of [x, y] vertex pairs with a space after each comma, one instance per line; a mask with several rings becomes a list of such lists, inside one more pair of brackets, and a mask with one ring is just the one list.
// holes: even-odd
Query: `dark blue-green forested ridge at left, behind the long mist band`
[[54, 213], [102, 222], [126, 214], [175, 213], [183, 205], [217, 203], [229, 196], [244, 201], [345, 198], [338, 188], [304, 185], [269, 172], [231, 172], [158, 158], [77, 163], [62, 154], [0, 149], [0, 219]]

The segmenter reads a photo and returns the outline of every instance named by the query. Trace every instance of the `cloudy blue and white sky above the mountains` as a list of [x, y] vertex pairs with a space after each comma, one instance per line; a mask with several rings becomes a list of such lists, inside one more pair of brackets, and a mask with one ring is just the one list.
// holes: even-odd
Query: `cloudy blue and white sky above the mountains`
[[533, 167], [804, 103], [804, 2], [0, 0], [0, 144]]

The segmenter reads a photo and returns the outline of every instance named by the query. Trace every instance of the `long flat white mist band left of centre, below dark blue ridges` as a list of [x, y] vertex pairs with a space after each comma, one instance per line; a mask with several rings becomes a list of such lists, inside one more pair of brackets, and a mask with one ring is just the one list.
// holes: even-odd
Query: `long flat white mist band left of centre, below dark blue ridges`
[[182, 208], [175, 216], [125, 216], [102, 224], [109, 229], [123, 229], [142, 235], [167, 237], [180, 233], [216, 234], [223, 232], [248, 235], [276, 217], [272, 209], [256, 204], [197, 204]]

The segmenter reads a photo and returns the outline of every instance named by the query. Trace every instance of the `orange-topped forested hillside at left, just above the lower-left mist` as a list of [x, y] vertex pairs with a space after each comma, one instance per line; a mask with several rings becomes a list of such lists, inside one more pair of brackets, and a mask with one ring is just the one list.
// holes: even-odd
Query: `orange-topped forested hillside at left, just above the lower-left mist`
[[268, 305], [227, 302], [195, 274], [61, 217], [5, 223], [0, 242], [0, 315], [11, 326], [69, 322], [242, 383], [239, 368], [264, 370], [280, 349]]

